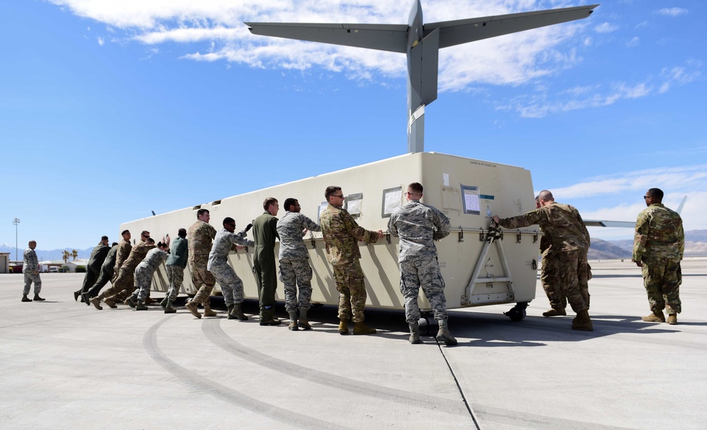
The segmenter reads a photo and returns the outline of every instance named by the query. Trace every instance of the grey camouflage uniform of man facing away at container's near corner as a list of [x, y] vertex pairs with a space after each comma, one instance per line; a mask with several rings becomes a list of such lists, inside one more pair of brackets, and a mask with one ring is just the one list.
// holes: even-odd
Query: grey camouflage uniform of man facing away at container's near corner
[[400, 292], [405, 299], [405, 319], [420, 319], [417, 297], [420, 287], [430, 301], [437, 321], [447, 321], [444, 280], [437, 261], [434, 239], [443, 239], [452, 231], [449, 218], [436, 208], [411, 200], [390, 215], [388, 229], [400, 238]]

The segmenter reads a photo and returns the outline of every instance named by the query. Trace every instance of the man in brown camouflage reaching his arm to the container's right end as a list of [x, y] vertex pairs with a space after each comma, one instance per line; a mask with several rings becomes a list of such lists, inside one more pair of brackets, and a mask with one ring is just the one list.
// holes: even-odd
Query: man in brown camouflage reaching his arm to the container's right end
[[578, 210], [571, 205], [556, 203], [550, 191], [541, 191], [540, 208], [517, 217], [493, 220], [499, 225], [517, 229], [539, 225], [550, 237], [550, 247], [561, 272], [558, 281], [566, 287], [567, 301], [577, 313], [572, 320], [574, 330], [594, 330], [589, 317], [589, 286], [587, 251], [590, 245], [589, 232]]

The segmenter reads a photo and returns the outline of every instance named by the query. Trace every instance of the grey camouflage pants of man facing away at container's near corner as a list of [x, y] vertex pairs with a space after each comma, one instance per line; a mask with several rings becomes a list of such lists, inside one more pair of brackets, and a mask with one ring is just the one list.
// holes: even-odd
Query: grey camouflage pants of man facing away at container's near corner
[[405, 320], [414, 323], [420, 319], [417, 297], [420, 287], [430, 301], [437, 321], [447, 321], [447, 299], [444, 280], [437, 258], [414, 258], [400, 261], [400, 292], [405, 299]]

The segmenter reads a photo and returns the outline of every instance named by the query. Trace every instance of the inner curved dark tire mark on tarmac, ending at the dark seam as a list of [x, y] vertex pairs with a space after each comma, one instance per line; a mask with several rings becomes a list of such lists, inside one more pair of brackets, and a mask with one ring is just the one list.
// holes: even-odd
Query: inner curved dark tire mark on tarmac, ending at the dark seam
[[252, 362], [253, 364], [266, 367], [267, 369], [280, 372], [287, 376], [300, 378], [328, 388], [349, 391], [357, 395], [366, 395], [372, 398], [401, 403], [402, 405], [408, 405], [421, 410], [433, 409], [448, 414], [468, 415], [467, 407], [464, 406], [462, 399], [458, 400], [457, 404], [457, 400], [409, 393], [395, 388], [375, 386], [371, 383], [363, 383], [344, 376], [327, 374], [326, 372], [309, 369], [308, 367], [292, 364], [285, 360], [276, 359], [275, 357], [263, 354], [262, 352], [253, 350], [233, 340], [233, 338], [221, 328], [221, 318], [204, 321], [201, 325], [201, 330], [204, 331], [206, 338], [209, 338], [211, 342], [214, 342], [214, 344], [226, 352], [244, 359], [247, 362]]

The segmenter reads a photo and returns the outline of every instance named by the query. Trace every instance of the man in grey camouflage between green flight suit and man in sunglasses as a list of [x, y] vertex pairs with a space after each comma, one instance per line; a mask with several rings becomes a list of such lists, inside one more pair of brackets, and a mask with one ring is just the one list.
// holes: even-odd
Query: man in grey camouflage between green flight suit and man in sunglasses
[[[285, 285], [285, 309], [290, 316], [290, 330], [303, 328], [310, 330], [307, 311], [312, 306], [312, 266], [309, 253], [302, 240], [305, 232], [320, 232], [316, 222], [300, 213], [300, 203], [296, 198], [285, 200], [285, 216], [277, 222], [277, 234], [280, 236], [280, 280]], [[299, 304], [297, 287], [300, 288]], [[299, 308], [300, 316], [297, 318]]]

